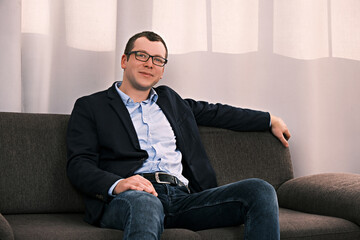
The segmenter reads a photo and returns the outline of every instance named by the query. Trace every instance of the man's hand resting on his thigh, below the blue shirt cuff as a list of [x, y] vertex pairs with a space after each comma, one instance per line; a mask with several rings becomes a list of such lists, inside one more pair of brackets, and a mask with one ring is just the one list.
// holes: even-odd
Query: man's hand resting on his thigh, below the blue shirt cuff
[[117, 195], [127, 190], [137, 190], [148, 192], [157, 197], [157, 192], [151, 182], [140, 175], [134, 175], [118, 182], [113, 190], [113, 194]]

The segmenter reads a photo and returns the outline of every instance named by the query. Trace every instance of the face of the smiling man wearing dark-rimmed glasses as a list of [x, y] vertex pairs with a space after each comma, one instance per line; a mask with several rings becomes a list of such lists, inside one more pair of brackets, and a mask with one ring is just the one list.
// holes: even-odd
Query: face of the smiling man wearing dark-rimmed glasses
[[[142, 51], [152, 56], [165, 58], [165, 47], [161, 42], [152, 42], [145, 37], [138, 38], [131, 51]], [[121, 58], [121, 68], [124, 69], [123, 81], [132, 90], [148, 91], [150, 90], [164, 74], [164, 67], [153, 64], [152, 58], [146, 62], [135, 59], [135, 54], [129, 56], [123, 55]]]

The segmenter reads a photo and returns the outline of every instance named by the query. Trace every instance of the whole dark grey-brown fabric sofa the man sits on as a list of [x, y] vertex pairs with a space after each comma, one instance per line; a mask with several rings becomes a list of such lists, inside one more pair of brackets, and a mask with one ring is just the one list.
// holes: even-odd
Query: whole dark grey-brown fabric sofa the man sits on
[[[0, 239], [121, 239], [122, 231], [83, 221], [65, 173], [68, 119], [0, 113]], [[289, 149], [269, 132], [199, 129], [219, 184], [256, 177], [276, 188], [281, 239], [360, 239], [360, 175], [294, 179]], [[162, 239], [243, 239], [243, 230], [166, 229]]]

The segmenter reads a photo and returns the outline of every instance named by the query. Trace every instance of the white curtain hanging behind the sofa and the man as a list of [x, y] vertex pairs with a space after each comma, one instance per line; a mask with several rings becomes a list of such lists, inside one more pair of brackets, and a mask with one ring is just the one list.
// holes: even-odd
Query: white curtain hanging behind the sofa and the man
[[0, 0], [0, 111], [69, 114], [143, 30], [168, 43], [161, 84], [281, 116], [297, 176], [360, 173], [358, 0]]

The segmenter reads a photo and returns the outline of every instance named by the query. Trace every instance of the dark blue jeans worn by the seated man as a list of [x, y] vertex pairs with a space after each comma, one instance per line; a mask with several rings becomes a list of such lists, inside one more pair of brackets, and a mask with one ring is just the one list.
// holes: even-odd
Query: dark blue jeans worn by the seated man
[[160, 239], [165, 228], [194, 231], [245, 224], [245, 239], [280, 239], [276, 192], [247, 179], [189, 194], [186, 187], [154, 183], [155, 197], [126, 191], [106, 207], [101, 227], [124, 231], [124, 239]]

